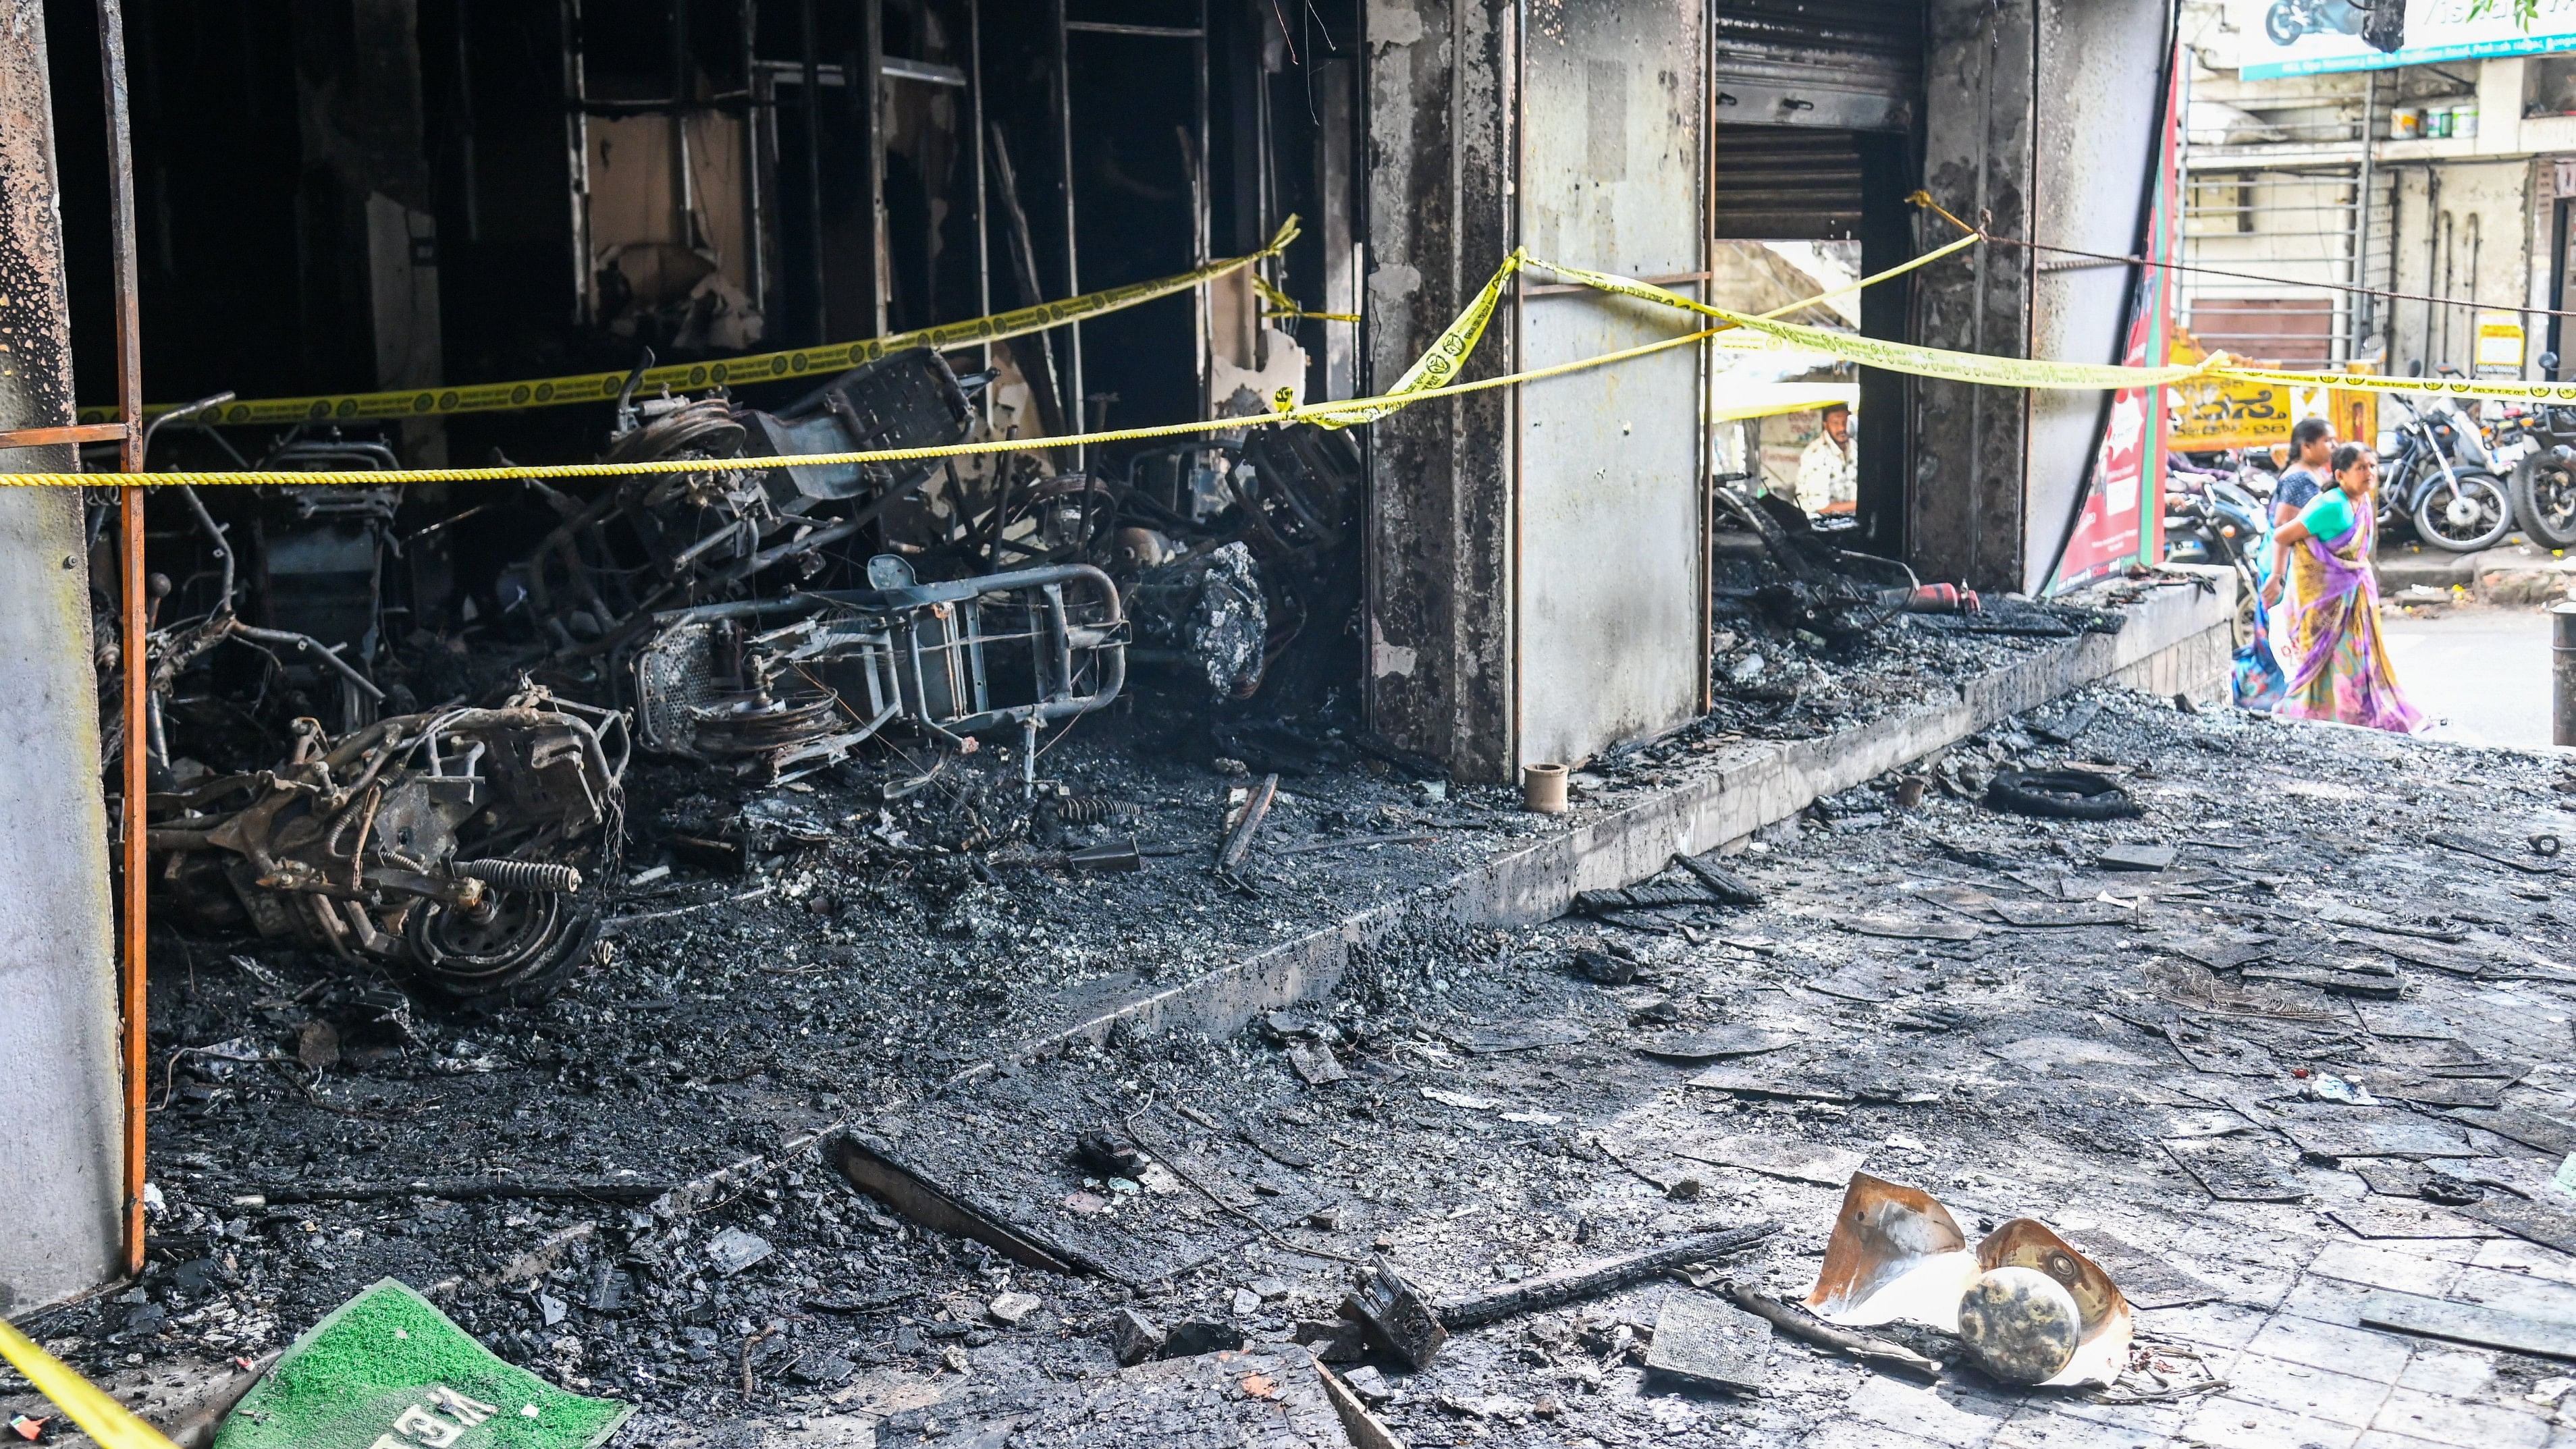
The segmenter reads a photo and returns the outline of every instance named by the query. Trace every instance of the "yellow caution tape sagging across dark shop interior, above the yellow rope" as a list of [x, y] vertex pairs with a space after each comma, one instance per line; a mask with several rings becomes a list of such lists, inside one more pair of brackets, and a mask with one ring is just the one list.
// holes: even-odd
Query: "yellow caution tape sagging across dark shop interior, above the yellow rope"
[[[644, 373], [644, 391], [659, 389], [711, 389], [711, 386], [747, 386], [768, 383], [781, 378], [799, 378], [809, 373], [840, 373], [860, 363], [884, 358], [886, 353], [902, 353], [909, 347], [974, 347], [979, 342], [1007, 342], [1012, 337], [1028, 337], [1030, 332], [1048, 332], [1069, 322], [1082, 322], [1108, 311], [1123, 311], [1177, 291], [1190, 291], [1208, 281], [1216, 281], [1231, 270], [1249, 268], [1265, 257], [1275, 257], [1296, 242], [1298, 224], [1296, 216], [1280, 224], [1270, 245], [1247, 257], [1231, 257], [1224, 263], [1208, 263], [1198, 270], [1180, 275], [1139, 281], [1128, 286], [1113, 286], [1108, 291], [1092, 291], [1082, 296], [1069, 296], [1064, 301], [1041, 301], [1038, 306], [1023, 306], [1018, 311], [999, 311], [994, 317], [976, 317], [974, 322], [943, 322], [940, 327], [922, 327], [917, 332], [896, 332], [891, 337], [868, 337], [866, 342], [832, 342], [824, 347], [793, 347], [786, 353], [755, 353], [750, 358], [724, 358], [719, 363], [672, 363], [667, 368], [649, 368]], [[562, 407], [574, 401], [616, 401], [618, 391], [626, 389], [626, 373], [572, 373], [562, 378], [526, 378], [515, 383], [469, 383], [453, 389], [402, 389], [402, 391], [361, 391], [337, 396], [273, 396], [252, 401], [229, 401], [219, 409], [209, 409], [209, 422], [366, 422], [384, 417], [446, 417], [456, 412], [510, 412], [523, 407]], [[144, 414], [170, 412], [173, 404], [147, 407]], [[116, 422], [116, 409], [111, 407], [85, 407], [80, 409], [82, 422]]]

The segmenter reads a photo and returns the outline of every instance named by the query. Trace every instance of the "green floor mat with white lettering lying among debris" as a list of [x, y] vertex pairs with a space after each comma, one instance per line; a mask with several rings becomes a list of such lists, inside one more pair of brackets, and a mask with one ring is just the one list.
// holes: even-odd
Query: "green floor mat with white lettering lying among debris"
[[595, 1449], [629, 1413], [505, 1364], [384, 1279], [296, 1338], [214, 1449]]

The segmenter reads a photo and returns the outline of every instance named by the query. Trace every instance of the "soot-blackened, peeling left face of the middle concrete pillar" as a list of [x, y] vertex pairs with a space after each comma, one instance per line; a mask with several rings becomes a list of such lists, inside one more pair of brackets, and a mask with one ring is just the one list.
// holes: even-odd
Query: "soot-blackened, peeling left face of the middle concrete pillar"
[[[1422, 355], [1515, 245], [1512, 0], [1370, 0], [1363, 391]], [[1512, 371], [1510, 304], [1466, 378]], [[1512, 770], [1510, 389], [1368, 438], [1365, 692], [1378, 734], [1479, 780]]]

